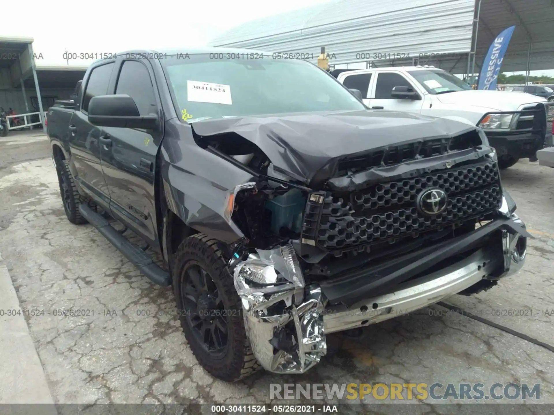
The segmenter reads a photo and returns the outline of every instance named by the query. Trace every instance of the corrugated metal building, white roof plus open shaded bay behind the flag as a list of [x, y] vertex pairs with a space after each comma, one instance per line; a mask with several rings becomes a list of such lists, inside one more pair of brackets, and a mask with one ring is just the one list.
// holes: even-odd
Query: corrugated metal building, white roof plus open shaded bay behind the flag
[[335, 68], [412, 65], [417, 58], [464, 74], [480, 71], [491, 42], [514, 24], [502, 70], [526, 70], [530, 50], [531, 70], [554, 69], [554, 2], [546, 0], [333, 0], [244, 23], [209, 45], [304, 54], [314, 62], [326, 46]]

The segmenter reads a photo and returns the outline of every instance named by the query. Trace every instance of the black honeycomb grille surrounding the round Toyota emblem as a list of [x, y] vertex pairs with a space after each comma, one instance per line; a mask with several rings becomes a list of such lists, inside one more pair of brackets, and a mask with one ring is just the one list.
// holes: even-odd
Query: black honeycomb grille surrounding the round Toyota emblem
[[[418, 195], [430, 188], [442, 189], [448, 195], [446, 209], [435, 216], [422, 214], [416, 206]], [[498, 209], [501, 201], [499, 174], [491, 160], [342, 196], [327, 194], [317, 243], [334, 251], [409, 234], [417, 236], [419, 232], [484, 216]]]

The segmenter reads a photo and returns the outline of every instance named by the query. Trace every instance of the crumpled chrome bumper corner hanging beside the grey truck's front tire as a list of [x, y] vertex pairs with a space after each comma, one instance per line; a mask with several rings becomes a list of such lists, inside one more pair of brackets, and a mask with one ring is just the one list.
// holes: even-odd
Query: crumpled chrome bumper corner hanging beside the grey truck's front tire
[[290, 243], [257, 251], [234, 269], [250, 347], [265, 370], [304, 373], [327, 352], [321, 290], [304, 287]]

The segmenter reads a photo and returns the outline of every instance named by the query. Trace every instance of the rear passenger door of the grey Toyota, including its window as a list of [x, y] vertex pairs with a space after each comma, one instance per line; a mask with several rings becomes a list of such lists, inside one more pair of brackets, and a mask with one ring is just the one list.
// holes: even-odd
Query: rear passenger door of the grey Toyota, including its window
[[89, 123], [87, 111], [92, 97], [106, 95], [114, 66], [115, 62], [111, 61], [91, 70], [83, 90], [83, 100], [69, 122], [71, 174], [83, 190], [105, 207], [110, 203], [110, 195], [100, 166], [102, 129]]

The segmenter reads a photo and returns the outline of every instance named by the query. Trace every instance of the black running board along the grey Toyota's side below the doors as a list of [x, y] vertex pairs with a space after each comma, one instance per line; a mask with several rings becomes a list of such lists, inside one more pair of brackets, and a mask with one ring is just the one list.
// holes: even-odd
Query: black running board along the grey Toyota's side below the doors
[[115, 230], [109, 222], [100, 216], [98, 213], [90, 209], [89, 206], [79, 205], [81, 215], [89, 221], [98, 231], [112, 243], [127, 260], [135, 264], [140, 272], [159, 286], [167, 287], [171, 284], [170, 274], [164, 271], [158, 264], [152, 261], [150, 255], [142, 251], [141, 248], [129, 242], [127, 238], [117, 230]]

